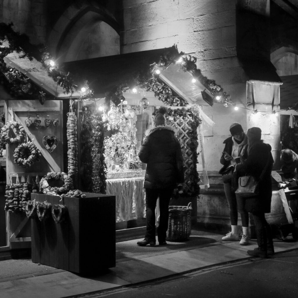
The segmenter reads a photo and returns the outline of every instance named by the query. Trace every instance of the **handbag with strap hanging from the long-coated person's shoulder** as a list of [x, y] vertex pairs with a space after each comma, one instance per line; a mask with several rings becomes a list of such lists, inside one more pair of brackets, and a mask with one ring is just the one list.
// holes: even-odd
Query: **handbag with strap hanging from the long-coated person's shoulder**
[[270, 156], [268, 156], [268, 161], [266, 163], [266, 166], [264, 167], [260, 178], [256, 180], [254, 176], [242, 176], [238, 179], [238, 188], [235, 191], [236, 194], [238, 194], [242, 198], [248, 198], [253, 197], [259, 194], [259, 182], [263, 179], [263, 176], [265, 174], [265, 171], [269, 164]]

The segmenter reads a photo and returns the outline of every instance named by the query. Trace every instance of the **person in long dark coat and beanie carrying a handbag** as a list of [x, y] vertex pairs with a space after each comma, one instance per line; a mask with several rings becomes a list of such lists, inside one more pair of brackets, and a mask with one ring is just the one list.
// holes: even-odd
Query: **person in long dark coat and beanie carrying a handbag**
[[245, 207], [253, 216], [258, 243], [257, 248], [248, 250], [247, 253], [254, 257], [266, 258], [268, 254], [274, 254], [272, 231], [265, 218], [265, 213], [270, 213], [271, 209], [273, 158], [271, 146], [261, 140], [261, 134], [260, 128], [249, 128], [248, 156], [243, 164], [237, 164], [236, 171], [238, 176], [253, 176], [259, 180], [265, 169], [262, 179], [259, 180], [259, 194], [247, 198]]

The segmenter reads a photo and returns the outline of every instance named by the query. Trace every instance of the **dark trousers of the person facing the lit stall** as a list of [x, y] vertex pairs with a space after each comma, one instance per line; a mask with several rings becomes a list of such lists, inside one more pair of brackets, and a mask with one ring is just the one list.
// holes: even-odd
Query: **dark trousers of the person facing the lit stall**
[[157, 238], [159, 242], [166, 240], [169, 203], [172, 197], [173, 189], [148, 189], [146, 188], [146, 235], [145, 240], [155, 240], [155, 208], [156, 201], [159, 198], [159, 226], [157, 227]]

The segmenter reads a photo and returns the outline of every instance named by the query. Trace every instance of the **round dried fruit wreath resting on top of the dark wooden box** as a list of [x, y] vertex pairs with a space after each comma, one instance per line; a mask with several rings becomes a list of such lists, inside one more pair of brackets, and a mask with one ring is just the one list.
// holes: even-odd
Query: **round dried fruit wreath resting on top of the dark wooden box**
[[[51, 180], [60, 180], [63, 181], [63, 186], [61, 187], [51, 187], [48, 182]], [[62, 193], [68, 192], [73, 188], [72, 178], [67, 176], [64, 172], [49, 172], [44, 177], [41, 178], [39, 185], [43, 191], [43, 193], [47, 193], [49, 191], [54, 191], [58, 195]]]

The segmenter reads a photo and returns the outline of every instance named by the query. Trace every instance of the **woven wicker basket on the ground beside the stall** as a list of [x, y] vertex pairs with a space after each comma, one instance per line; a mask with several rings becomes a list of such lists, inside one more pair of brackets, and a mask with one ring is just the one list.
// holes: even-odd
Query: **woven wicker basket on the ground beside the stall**
[[187, 206], [169, 206], [167, 241], [184, 241], [190, 236], [191, 202]]

